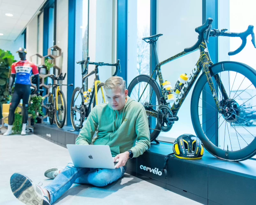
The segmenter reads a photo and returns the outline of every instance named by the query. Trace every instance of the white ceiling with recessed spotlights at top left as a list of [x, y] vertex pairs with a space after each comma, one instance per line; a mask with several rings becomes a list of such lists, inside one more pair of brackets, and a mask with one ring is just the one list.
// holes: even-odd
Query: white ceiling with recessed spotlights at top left
[[[0, 0], [0, 39], [15, 40], [44, 1]], [[7, 13], [13, 16], [6, 16]]]

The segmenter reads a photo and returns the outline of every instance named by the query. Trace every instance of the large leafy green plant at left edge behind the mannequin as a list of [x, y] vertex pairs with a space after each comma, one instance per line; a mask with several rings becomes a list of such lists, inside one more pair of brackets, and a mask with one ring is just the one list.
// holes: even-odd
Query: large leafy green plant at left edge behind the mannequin
[[0, 49], [0, 102], [2, 104], [9, 101], [9, 76], [12, 64], [16, 62], [10, 51]]

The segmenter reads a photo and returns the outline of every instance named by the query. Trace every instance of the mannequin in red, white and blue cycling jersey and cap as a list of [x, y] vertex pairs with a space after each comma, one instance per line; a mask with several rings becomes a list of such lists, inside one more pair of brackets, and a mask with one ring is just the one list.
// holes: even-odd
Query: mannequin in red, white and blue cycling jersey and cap
[[[39, 72], [37, 66], [26, 60], [27, 50], [25, 48], [19, 48], [18, 51], [21, 60], [12, 64], [12, 73], [9, 79], [9, 94], [12, 94], [12, 85], [15, 77], [15, 88], [12, 95], [12, 101], [10, 103], [9, 117], [8, 117], [8, 129], [5, 132], [5, 136], [12, 134], [12, 127], [14, 122], [14, 112], [20, 103], [23, 101], [23, 117], [22, 117], [22, 131], [21, 135], [26, 134], [26, 126], [28, 121], [28, 101], [30, 98], [30, 76], [33, 73], [37, 82], [37, 96], [39, 96]], [[17, 75], [17, 76], [16, 76]]]

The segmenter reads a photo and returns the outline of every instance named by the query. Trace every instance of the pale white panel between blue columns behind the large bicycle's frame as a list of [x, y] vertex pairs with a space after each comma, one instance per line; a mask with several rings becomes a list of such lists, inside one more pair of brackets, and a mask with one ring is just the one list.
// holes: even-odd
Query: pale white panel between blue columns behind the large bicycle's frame
[[[157, 33], [163, 34], [157, 41], [159, 62], [194, 45], [198, 36], [195, 28], [200, 25], [202, 25], [202, 0], [158, 0]], [[174, 87], [182, 73], [191, 73], [199, 55], [200, 52], [195, 51], [162, 66], [164, 81], [170, 81]], [[178, 112], [179, 121], [174, 123], [171, 131], [161, 132], [159, 140], [173, 142], [181, 134], [195, 134], [190, 116], [191, 94], [192, 92], [187, 95]]]

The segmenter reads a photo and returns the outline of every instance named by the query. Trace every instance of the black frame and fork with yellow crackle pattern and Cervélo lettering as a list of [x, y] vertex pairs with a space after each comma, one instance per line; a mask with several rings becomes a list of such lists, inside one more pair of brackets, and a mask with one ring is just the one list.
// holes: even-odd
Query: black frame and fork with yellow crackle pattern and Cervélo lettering
[[[152, 46], [153, 46], [153, 50], [154, 50], [154, 53], [155, 53], [155, 57], [156, 57], [157, 62], [158, 62], [157, 53], [156, 53], [156, 49], [155, 49], [155, 42], [152, 44]], [[213, 62], [211, 61], [210, 54], [208, 52], [208, 48], [207, 48], [205, 40], [203, 40], [203, 42], [200, 44], [200, 46], [198, 48], [196, 48], [196, 50], [198, 50], [198, 49], [200, 50], [200, 57], [199, 57], [196, 65], [195, 65], [194, 69], [189, 74], [189, 78], [186, 81], [186, 83], [184, 84], [182, 90], [180, 91], [180, 93], [178, 95], [178, 98], [175, 100], [175, 102], [173, 103], [173, 106], [171, 107], [171, 111], [172, 111], [174, 116], [177, 116], [180, 107], [182, 106], [185, 98], [187, 97], [187, 94], [189, 93], [190, 89], [194, 85], [196, 79], [198, 78], [198, 76], [199, 76], [199, 74], [202, 70], [204, 71], [205, 75], [207, 76], [207, 81], [208, 81], [208, 84], [210, 85], [210, 89], [211, 89], [211, 92], [212, 92], [212, 96], [214, 97], [214, 101], [216, 103], [217, 110], [219, 111], [219, 113], [222, 113], [222, 108], [221, 108], [221, 105], [219, 104], [218, 95], [217, 95], [217, 92], [214, 88], [214, 83], [212, 81], [211, 71], [209, 69], [209, 67], [211, 65], [213, 65]], [[194, 50], [194, 51], [196, 51], [196, 50]], [[194, 51], [191, 51], [191, 52], [194, 52]], [[185, 55], [187, 55], [191, 52], [186, 53], [185, 51], [182, 51], [181, 53], [178, 53], [177, 55], [174, 55], [171, 58], [168, 58], [168, 59], [166, 59], [162, 62], [159, 62], [156, 65], [155, 70], [153, 71], [152, 75], [150, 76], [150, 80], [154, 76], [155, 72], [157, 72], [159, 82], [160, 82], [160, 88], [161, 88], [161, 92], [162, 92], [163, 96], [164, 96], [164, 87], [163, 87], [164, 79], [163, 79], [163, 76], [162, 76], [162, 73], [161, 73], [161, 66], [163, 66], [164, 64], [166, 64], [168, 62], [171, 62], [175, 59], [178, 59], [182, 56], [185, 56]], [[157, 75], [156, 75], [156, 79], [157, 79]], [[223, 94], [224, 99], [228, 99], [228, 95], [226, 94], [226, 91], [224, 89], [224, 86], [223, 86], [220, 78], [219, 78], [219, 75], [218, 74], [214, 75], [214, 78], [217, 82], [219, 82], [219, 83], [217, 83], [218, 88], [220, 89], [221, 93]], [[148, 83], [150, 82], [150, 80], [148, 81]], [[145, 92], [145, 90], [148, 86], [148, 83], [147, 83], [145, 89], [143, 90], [143, 93]], [[143, 96], [143, 93], [141, 94], [141, 97]], [[141, 99], [141, 97], [140, 97], [140, 99]], [[138, 101], [140, 101], [140, 99]], [[152, 93], [151, 93], [151, 96], [150, 96], [150, 103], [151, 103], [151, 99], [152, 99]], [[166, 103], [166, 100], [165, 100], [164, 97], [163, 97], [163, 103], [168, 105]], [[155, 113], [155, 112], [146, 110], [146, 113], [148, 115], [152, 116], [152, 117], [157, 117], [157, 113]]]

